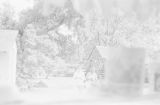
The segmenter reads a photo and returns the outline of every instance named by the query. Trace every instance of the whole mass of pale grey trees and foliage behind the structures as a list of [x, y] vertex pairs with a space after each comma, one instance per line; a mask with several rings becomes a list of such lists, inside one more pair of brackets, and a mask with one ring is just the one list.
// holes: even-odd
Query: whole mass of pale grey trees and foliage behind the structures
[[[43, 4], [43, 0], [38, 0], [33, 8], [22, 11], [19, 23], [12, 18], [14, 11], [10, 6], [0, 12], [1, 29], [17, 29], [17, 26], [19, 29], [17, 81], [22, 84], [32, 84], [35, 78], [48, 78], [54, 73], [81, 67], [86, 73], [95, 71], [98, 74], [103, 69], [103, 60], [96, 46], [142, 47], [147, 51], [147, 63], [160, 51], [160, 16], [153, 2], [149, 5], [153, 12], [150, 15], [143, 13], [142, 6], [146, 4], [138, 2], [137, 8], [128, 10], [117, 4], [112, 8], [119, 11], [111, 11], [113, 13], [107, 17], [94, 10], [81, 15], [71, 0], [63, 7], [50, 5], [47, 11]], [[146, 19], [141, 17], [141, 12]], [[76, 67], [70, 70], [70, 65]]]

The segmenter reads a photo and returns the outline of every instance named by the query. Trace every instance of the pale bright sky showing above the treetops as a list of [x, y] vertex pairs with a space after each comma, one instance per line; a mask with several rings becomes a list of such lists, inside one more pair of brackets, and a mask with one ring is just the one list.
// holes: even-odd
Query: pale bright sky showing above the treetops
[[[54, 4], [56, 6], [63, 6], [65, 1], [66, 0], [44, 0], [43, 14], [48, 15], [50, 13], [50, 8], [48, 8], [49, 5]], [[113, 6], [120, 7], [121, 10], [120, 12], [123, 15], [122, 12], [128, 13], [128, 11], [131, 9], [133, 1], [134, 0], [72, 0], [75, 10], [84, 16], [88, 14], [92, 9], [102, 13], [103, 15], [108, 16], [111, 12], [117, 11], [116, 9], [112, 10], [114, 9], [112, 8]], [[140, 0], [140, 1], [144, 2], [149, 0]], [[16, 12], [15, 17], [18, 17], [20, 11], [27, 8], [32, 8], [34, 4], [34, 0], [0, 0], [0, 5], [3, 2], [9, 3], [14, 8], [14, 11]], [[148, 8], [144, 6], [143, 10], [147, 11]]]

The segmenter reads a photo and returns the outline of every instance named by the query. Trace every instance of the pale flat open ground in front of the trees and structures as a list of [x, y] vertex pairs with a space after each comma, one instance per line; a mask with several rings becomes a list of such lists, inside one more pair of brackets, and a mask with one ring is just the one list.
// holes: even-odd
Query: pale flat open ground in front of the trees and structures
[[23, 101], [15, 105], [159, 105], [160, 102], [160, 95], [157, 94], [129, 98], [100, 95], [96, 94], [95, 90], [88, 92], [77, 88], [77, 81], [68, 77], [50, 78], [45, 82], [48, 88], [24, 92]]

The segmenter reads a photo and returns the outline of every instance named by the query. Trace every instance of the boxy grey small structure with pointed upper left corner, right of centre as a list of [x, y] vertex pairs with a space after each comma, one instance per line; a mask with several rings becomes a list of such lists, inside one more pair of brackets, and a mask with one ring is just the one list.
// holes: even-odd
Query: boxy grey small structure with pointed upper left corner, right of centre
[[141, 94], [144, 82], [145, 51], [141, 48], [102, 47], [97, 49], [104, 58], [104, 80], [108, 92]]

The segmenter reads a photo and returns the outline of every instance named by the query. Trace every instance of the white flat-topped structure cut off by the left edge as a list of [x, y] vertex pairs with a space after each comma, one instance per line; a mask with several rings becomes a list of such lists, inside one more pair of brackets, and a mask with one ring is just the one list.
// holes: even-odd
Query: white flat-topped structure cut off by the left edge
[[[0, 30], [0, 102], [16, 94], [16, 36], [18, 31]], [[18, 92], [18, 91], [17, 91]]]

